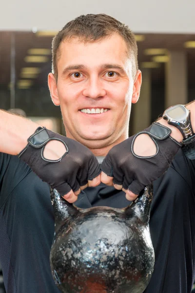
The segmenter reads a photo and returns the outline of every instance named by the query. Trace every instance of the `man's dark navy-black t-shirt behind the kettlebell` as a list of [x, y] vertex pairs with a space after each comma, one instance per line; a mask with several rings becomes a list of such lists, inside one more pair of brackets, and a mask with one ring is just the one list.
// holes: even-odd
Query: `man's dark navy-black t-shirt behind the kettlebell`
[[[129, 205], [123, 191], [100, 184], [77, 206]], [[154, 182], [150, 231], [156, 262], [144, 293], [190, 293], [195, 273], [195, 161], [183, 152]], [[49, 265], [54, 214], [49, 187], [16, 156], [0, 153], [0, 262], [7, 293], [59, 293]]]

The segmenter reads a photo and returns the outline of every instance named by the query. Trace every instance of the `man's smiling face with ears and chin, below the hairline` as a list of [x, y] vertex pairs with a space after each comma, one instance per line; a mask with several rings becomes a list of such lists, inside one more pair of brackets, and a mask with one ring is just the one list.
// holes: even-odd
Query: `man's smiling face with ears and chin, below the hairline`
[[141, 73], [132, 76], [127, 45], [117, 34], [98, 42], [72, 38], [61, 42], [59, 50], [58, 82], [50, 73], [48, 84], [54, 104], [60, 105], [66, 135], [103, 155], [128, 138]]

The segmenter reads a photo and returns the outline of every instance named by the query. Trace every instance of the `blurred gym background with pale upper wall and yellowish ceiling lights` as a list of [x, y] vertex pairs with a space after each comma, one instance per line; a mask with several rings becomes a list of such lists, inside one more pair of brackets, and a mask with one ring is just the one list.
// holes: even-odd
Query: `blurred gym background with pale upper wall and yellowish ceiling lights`
[[[51, 42], [66, 22], [87, 13], [109, 14], [136, 34], [143, 81], [140, 99], [132, 105], [130, 135], [149, 126], [168, 106], [195, 99], [194, 0], [0, 4], [0, 109], [14, 109], [64, 134], [60, 108], [52, 103], [47, 86]], [[2, 293], [1, 276], [0, 284]]]

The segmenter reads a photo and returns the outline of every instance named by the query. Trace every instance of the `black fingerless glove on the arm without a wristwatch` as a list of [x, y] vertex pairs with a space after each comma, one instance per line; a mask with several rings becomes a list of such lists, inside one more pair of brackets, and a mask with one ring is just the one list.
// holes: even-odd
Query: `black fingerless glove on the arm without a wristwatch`
[[[65, 154], [59, 160], [47, 160], [43, 156], [44, 146], [51, 140], [62, 142]], [[28, 145], [20, 152], [19, 157], [60, 195], [71, 189], [77, 191], [100, 174], [100, 166], [95, 155], [77, 141], [64, 137], [56, 132], [39, 127], [29, 137]]]

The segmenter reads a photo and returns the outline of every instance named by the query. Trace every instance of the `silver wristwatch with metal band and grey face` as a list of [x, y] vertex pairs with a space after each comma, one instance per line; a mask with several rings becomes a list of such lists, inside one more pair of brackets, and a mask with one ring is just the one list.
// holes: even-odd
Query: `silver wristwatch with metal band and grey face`
[[189, 145], [195, 140], [192, 129], [190, 110], [185, 105], [175, 105], [166, 109], [162, 116], [168, 124], [176, 126], [183, 135], [183, 144]]

